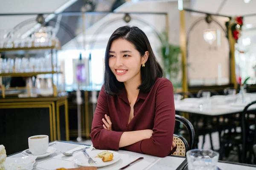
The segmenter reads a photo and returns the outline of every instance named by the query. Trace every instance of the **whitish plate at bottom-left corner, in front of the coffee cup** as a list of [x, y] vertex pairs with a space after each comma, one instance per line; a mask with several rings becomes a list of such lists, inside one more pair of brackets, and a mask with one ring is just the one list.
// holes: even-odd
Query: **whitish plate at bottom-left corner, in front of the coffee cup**
[[6, 158], [6, 170], [32, 170], [36, 156], [24, 156], [18, 158]]

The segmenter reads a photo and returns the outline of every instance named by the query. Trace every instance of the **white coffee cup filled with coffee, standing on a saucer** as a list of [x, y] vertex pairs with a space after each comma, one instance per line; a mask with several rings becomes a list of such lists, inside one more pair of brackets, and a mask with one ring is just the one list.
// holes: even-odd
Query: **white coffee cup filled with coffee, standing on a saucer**
[[29, 137], [29, 150], [33, 155], [43, 155], [49, 147], [49, 136], [36, 135]]

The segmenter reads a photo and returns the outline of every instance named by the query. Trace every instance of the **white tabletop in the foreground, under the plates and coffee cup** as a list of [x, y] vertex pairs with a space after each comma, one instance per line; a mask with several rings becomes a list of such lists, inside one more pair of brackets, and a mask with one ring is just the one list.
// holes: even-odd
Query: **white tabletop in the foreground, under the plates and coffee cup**
[[[83, 147], [92, 147], [87, 144], [67, 142], [67, 141], [54, 141], [55, 145], [51, 147], [55, 148], [55, 152], [43, 159], [36, 159], [33, 164], [33, 170], [56, 170], [58, 168], [76, 168], [79, 167], [74, 159], [81, 154], [80, 152], [74, 153], [73, 156], [64, 156], [61, 152], [70, 153], [73, 150], [81, 149]], [[92, 147], [93, 148], [93, 147]], [[183, 156], [166, 156], [164, 158], [150, 156], [141, 153], [135, 153], [127, 150], [113, 151], [120, 155], [120, 159], [113, 164], [105, 167], [99, 167], [98, 170], [119, 170], [121, 167], [129, 164], [131, 161], [137, 158], [143, 157], [142, 161], [139, 161], [131, 166], [125, 168], [125, 170], [186, 170], [187, 161]], [[90, 152], [88, 152], [90, 154]], [[29, 155], [29, 154], [28, 154]], [[31, 154], [30, 154], [31, 155]], [[29, 155], [29, 156], [30, 156]], [[12, 160], [19, 159], [20, 157], [27, 157], [24, 155], [24, 151], [9, 155], [7, 159]], [[240, 164], [236, 162], [224, 162], [219, 161], [217, 164], [220, 170], [256, 170], [255, 165]]]

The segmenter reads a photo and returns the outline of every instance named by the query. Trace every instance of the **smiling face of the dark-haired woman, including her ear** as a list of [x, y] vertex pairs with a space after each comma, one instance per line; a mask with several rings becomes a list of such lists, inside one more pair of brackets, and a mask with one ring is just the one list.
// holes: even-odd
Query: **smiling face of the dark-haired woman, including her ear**
[[140, 52], [131, 42], [117, 39], [111, 44], [108, 64], [119, 82], [140, 81], [140, 68], [147, 61], [148, 55], [146, 51], [141, 57]]

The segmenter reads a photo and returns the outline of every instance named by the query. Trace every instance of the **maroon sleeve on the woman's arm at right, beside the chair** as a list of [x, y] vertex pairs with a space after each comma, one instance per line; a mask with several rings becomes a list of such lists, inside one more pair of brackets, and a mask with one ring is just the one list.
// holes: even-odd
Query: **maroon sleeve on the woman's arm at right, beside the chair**
[[165, 157], [172, 150], [174, 127], [175, 105], [173, 86], [166, 79], [157, 89], [154, 127], [151, 138], [124, 148], [138, 153]]

